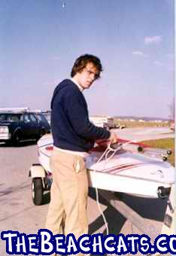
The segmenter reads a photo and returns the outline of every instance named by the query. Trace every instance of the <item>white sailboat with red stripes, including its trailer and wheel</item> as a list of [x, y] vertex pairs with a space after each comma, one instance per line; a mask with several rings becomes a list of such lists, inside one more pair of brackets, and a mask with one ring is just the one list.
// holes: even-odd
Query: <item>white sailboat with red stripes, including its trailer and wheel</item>
[[[43, 136], [38, 141], [40, 163], [33, 164], [29, 171], [32, 177], [32, 200], [35, 205], [43, 203], [44, 190], [50, 190], [52, 184], [52, 151], [52, 136]], [[166, 197], [167, 207], [160, 233], [174, 233], [174, 167], [167, 162], [169, 154], [171, 151], [155, 150], [136, 142], [122, 141], [116, 148], [107, 146], [107, 142], [99, 142], [86, 157], [90, 187], [96, 187], [96, 192], [98, 188], [102, 197], [108, 200], [112, 207], [152, 240], [158, 234], [156, 227], [123, 200], [117, 200], [112, 192], [144, 197], [144, 200]], [[98, 196], [96, 199], [99, 206]], [[100, 212], [102, 213], [102, 210]], [[105, 224], [108, 230], [106, 221]]]

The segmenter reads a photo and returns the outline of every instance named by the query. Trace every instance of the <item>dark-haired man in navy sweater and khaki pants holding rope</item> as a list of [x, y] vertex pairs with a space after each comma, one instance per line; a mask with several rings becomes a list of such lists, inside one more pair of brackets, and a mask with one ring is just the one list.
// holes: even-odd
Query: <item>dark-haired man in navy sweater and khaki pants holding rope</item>
[[71, 79], [62, 81], [51, 101], [53, 184], [46, 228], [53, 234], [74, 233], [76, 239], [88, 232], [86, 203], [88, 181], [85, 157], [96, 139], [117, 142], [113, 132], [90, 123], [83, 90], [100, 77], [102, 64], [96, 56], [80, 56], [71, 70]]

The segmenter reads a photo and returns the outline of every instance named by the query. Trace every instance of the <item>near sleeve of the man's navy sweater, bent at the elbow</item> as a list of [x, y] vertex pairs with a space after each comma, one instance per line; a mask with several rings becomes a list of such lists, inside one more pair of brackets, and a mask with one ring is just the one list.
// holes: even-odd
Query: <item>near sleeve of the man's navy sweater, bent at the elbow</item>
[[77, 135], [84, 139], [108, 139], [110, 133], [102, 127], [97, 127], [89, 120], [89, 114], [83, 96], [80, 92], [70, 90], [65, 93], [65, 104], [68, 120]]

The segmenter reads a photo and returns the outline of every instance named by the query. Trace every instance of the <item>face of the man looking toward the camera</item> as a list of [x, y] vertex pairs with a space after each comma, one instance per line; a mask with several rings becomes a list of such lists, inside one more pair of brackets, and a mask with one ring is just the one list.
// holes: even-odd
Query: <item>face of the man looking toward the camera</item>
[[86, 64], [86, 67], [75, 75], [75, 79], [80, 87], [83, 89], [89, 89], [93, 81], [96, 80], [97, 75], [99, 75], [96, 66], [92, 62]]

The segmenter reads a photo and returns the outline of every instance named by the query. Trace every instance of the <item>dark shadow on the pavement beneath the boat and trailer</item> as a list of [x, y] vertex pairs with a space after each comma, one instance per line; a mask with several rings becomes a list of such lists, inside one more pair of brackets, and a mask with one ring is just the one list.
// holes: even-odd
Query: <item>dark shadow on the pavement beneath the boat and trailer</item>
[[[96, 200], [96, 190], [90, 188], [89, 196]], [[117, 199], [118, 200], [118, 199]], [[120, 200], [130, 206], [135, 212], [137, 212], [141, 217], [150, 219], [153, 221], [163, 221], [165, 216], [165, 209], [167, 206], [167, 199], [148, 199], [141, 197], [134, 197], [127, 194], [120, 194]], [[108, 206], [107, 209], [103, 212], [105, 214], [105, 218], [108, 221], [108, 229], [109, 233], [120, 233], [120, 230], [123, 227], [123, 224], [126, 222], [126, 218], [114, 209], [104, 198], [99, 195], [99, 203]], [[115, 205], [115, 202], [114, 202]], [[95, 233], [99, 228], [104, 225], [104, 221], [102, 215], [99, 214], [99, 217], [96, 218], [90, 224], [89, 233]]]

